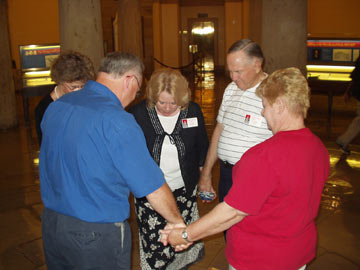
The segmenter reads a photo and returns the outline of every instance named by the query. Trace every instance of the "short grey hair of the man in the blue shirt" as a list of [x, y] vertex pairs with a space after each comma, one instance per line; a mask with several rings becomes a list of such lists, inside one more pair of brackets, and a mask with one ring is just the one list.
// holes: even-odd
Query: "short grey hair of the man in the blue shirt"
[[134, 69], [139, 75], [142, 75], [144, 71], [143, 62], [135, 54], [127, 52], [111, 52], [101, 61], [99, 72], [105, 72], [115, 77], [121, 77], [126, 72]]

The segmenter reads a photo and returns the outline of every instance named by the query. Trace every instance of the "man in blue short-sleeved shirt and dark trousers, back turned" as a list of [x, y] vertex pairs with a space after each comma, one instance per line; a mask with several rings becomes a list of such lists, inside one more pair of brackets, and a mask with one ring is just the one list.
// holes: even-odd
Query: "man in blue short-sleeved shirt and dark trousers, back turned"
[[45, 113], [40, 186], [49, 270], [130, 269], [130, 192], [185, 227], [140, 127], [124, 110], [140, 90], [142, 72], [135, 55], [108, 54], [96, 81]]

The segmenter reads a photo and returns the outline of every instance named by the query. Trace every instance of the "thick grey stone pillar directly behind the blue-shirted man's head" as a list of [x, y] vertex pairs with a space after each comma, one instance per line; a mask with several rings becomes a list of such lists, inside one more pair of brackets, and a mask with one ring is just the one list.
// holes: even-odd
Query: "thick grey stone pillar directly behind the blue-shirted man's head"
[[61, 50], [81, 52], [95, 70], [104, 57], [100, 0], [59, 0]]

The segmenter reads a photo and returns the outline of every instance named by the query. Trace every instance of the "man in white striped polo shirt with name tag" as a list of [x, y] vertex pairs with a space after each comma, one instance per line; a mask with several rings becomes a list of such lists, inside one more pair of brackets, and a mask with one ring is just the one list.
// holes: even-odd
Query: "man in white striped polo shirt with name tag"
[[267, 76], [262, 70], [263, 62], [260, 46], [249, 39], [236, 41], [228, 50], [227, 65], [232, 82], [225, 89], [199, 181], [199, 191], [214, 192], [211, 171], [219, 157], [220, 202], [232, 186], [233, 165], [249, 148], [272, 136], [261, 115], [261, 98], [255, 94]]

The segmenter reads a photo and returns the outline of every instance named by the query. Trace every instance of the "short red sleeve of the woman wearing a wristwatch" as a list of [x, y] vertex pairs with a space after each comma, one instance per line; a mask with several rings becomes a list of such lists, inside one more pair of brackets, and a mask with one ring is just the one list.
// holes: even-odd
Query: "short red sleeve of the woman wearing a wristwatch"
[[248, 150], [233, 168], [233, 186], [225, 202], [248, 215], [257, 215], [275, 189], [276, 175], [262, 151]]

